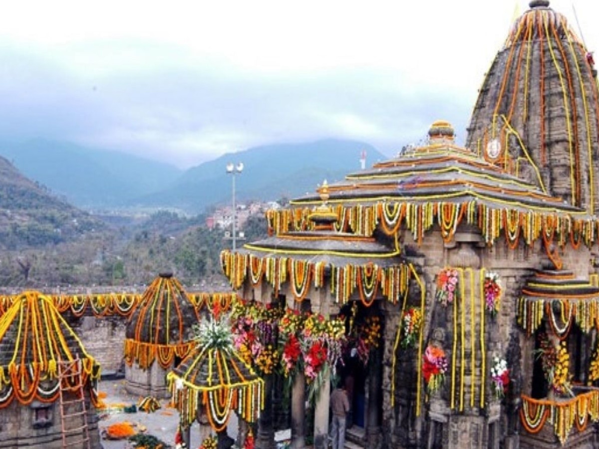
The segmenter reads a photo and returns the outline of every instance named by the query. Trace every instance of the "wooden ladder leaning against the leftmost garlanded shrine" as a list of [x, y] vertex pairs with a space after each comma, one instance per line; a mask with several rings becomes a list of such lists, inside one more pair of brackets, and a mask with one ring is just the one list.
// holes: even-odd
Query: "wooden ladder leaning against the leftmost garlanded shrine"
[[[89, 428], [87, 427], [87, 408], [83, 395], [81, 379], [81, 359], [76, 358], [58, 362], [60, 420], [62, 421], [62, 447], [91, 449]], [[65, 392], [70, 392], [65, 398]], [[72, 397], [74, 395], [74, 398]], [[81, 425], [73, 426], [73, 418], [81, 417]], [[78, 438], [74, 438], [77, 436]], [[71, 441], [69, 440], [69, 437]]]

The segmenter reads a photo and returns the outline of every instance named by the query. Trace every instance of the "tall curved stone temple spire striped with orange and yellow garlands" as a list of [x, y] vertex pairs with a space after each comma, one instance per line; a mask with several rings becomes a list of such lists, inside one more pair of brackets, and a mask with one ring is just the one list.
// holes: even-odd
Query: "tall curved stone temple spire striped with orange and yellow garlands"
[[548, 1], [510, 28], [479, 90], [466, 146], [488, 148], [507, 171], [596, 214], [599, 92], [592, 53]]

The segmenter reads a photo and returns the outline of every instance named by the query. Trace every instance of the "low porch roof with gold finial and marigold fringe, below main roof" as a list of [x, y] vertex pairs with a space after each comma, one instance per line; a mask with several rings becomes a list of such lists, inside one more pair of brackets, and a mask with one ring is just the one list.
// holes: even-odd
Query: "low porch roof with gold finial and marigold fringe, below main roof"
[[[365, 305], [370, 305], [379, 291], [389, 301], [397, 301], [409, 279], [409, 266], [397, 240], [381, 242], [373, 236], [335, 229], [338, 214], [327, 204], [326, 181], [318, 193], [320, 204], [305, 217], [308, 229], [281, 232], [243, 245], [237, 253], [221, 253], [223, 272], [231, 285], [239, 288], [246, 277], [254, 286], [265, 280], [276, 294], [289, 281], [295, 301], [302, 301], [311, 285], [330, 286], [340, 303], [349, 301], [356, 288]], [[331, 281], [325, 286], [329, 276]]]

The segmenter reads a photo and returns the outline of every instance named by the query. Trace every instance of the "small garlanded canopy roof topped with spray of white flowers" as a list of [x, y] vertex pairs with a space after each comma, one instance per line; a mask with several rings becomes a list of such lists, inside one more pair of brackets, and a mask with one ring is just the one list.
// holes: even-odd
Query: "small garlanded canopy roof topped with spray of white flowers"
[[198, 345], [168, 375], [180, 422], [188, 427], [205, 414], [216, 431], [224, 429], [231, 411], [254, 422], [264, 407], [264, 381], [241, 359], [224, 321], [202, 323]]

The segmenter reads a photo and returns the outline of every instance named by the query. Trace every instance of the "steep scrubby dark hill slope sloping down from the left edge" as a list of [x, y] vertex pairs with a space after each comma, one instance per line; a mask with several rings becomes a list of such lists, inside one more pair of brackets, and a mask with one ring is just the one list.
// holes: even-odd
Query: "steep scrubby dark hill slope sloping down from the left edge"
[[71, 241], [105, 225], [24, 177], [0, 157], [0, 249]]

